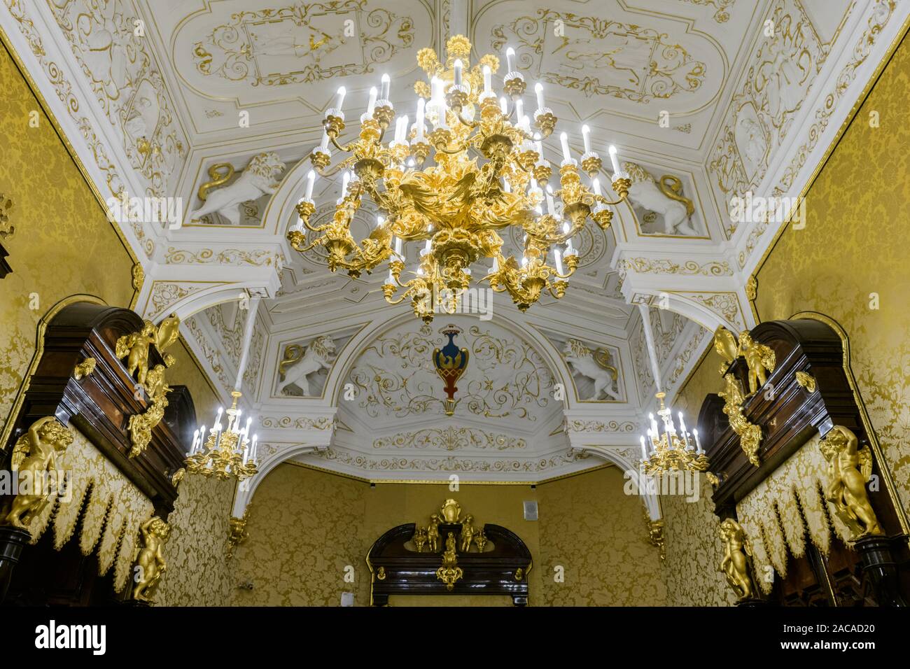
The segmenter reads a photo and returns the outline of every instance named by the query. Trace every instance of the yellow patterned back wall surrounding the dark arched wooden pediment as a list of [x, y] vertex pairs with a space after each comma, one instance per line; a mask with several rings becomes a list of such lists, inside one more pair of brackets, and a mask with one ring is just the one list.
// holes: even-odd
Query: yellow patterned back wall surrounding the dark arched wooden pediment
[[[622, 492], [622, 473], [602, 469], [531, 490], [523, 485], [379, 484], [279, 465], [260, 483], [249, 515], [249, 539], [235, 558], [233, 603], [332, 605], [341, 593], [369, 603], [364, 557], [389, 528], [427, 522], [447, 497], [478, 523], [516, 532], [531, 551], [531, 605], [659, 604], [665, 590], [657, 549], [647, 542], [642, 502]], [[541, 520], [523, 519], [522, 502], [540, 503]], [[553, 567], [565, 568], [555, 583]], [[346, 566], [354, 583], [345, 582]], [[392, 606], [511, 605], [508, 597], [392, 597]]]

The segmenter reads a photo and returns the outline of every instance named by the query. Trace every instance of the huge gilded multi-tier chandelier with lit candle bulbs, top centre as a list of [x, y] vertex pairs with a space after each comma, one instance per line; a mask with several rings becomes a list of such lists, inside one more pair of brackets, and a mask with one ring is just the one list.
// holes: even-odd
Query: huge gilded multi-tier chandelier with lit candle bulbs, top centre
[[[395, 117], [389, 76], [383, 75], [381, 92], [370, 89], [359, 138], [346, 145], [339, 143], [346, 93], [339, 88], [336, 104], [323, 122], [322, 143], [310, 154], [315, 171], [308, 173], [306, 195], [298, 203], [300, 221], [288, 231], [288, 241], [301, 253], [323, 246], [329, 269], [345, 269], [355, 278], [388, 260], [389, 279], [382, 287], [386, 300], [399, 304], [410, 298], [415, 315], [427, 322], [436, 310], [457, 309], [460, 296], [470, 287], [470, 266], [480, 258], [492, 262], [479, 282], [489, 281], [491, 289], [507, 291], [522, 311], [545, 290], [561, 298], [579, 261], [572, 239], [588, 218], [609, 228], [608, 206], [622, 202], [631, 185], [622, 177], [616, 149], [610, 147], [612, 187], [619, 196], [615, 202], [602, 195], [597, 177], [602, 161], [591, 150], [587, 126], [582, 128], [581, 170], [590, 178], [590, 188], [582, 183], [579, 162], [571, 157], [564, 132], [559, 188], [553, 188], [541, 140], [551, 135], [557, 118], [544, 105], [541, 84], [535, 86], [535, 131], [524, 113], [527, 85], [515, 70], [511, 48], [506, 52], [506, 96], [499, 98], [492, 89], [492, 75], [500, 66], [496, 56], [483, 56], [469, 67], [470, 42], [463, 35], [449, 39], [447, 55], [443, 65], [432, 49], [418, 53], [418, 64], [430, 81], [414, 86], [418, 99], [413, 125], [407, 115]], [[384, 143], [393, 120], [394, 137]], [[331, 168], [329, 143], [346, 155]], [[330, 177], [339, 172], [341, 198], [334, 217], [324, 225], [311, 225], [317, 173]], [[350, 223], [368, 196], [381, 215], [358, 244]], [[498, 231], [511, 226], [524, 231], [521, 258], [507, 258], [502, 252]], [[306, 230], [319, 236], [308, 243]], [[402, 278], [406, 242], [424, 244], [417, 267], [409, 272], [412, 279]]]

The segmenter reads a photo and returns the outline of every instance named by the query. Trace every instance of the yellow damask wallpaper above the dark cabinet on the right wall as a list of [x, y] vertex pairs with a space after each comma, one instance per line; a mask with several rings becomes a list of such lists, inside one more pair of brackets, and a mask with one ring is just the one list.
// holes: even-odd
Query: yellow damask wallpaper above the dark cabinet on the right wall
[[[820, 311], [850, 338], [852, 368], [910, 512], [910, 45], [885, 67], [758, 273], [763, 320]], [[879, 127], [870, 127], [877, 112]]]

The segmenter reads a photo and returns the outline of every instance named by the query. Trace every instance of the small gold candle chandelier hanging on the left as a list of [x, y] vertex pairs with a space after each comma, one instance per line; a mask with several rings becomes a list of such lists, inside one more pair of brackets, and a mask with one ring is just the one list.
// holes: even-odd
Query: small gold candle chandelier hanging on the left
[[187, 471], [191, 474], [214, 476], [222, 481], [235, 478], [238, 481], [253, 476], [258, 470], [256, 466], [256, 441], [249, 440], [249, 425], [253, 419], [248, 418], [247, 424], [240, 428], [240, 411], [237, 400], [240, 392], [231, 392], [234, 402], [227, 410], [227, 428], [221, 425], [221, 414], [224, 409], [218, 407], [218, 416], [215, 424], [206, 438], [206, 426], [203, 425], [193, 433], [193, 448], [187, 453]]

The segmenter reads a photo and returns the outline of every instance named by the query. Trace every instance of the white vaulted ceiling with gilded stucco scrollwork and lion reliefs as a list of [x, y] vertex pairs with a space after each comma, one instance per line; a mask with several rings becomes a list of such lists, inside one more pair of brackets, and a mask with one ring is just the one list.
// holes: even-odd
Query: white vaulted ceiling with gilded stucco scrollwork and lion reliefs
[[[542, 481], [602, 458], [631, 465], [654, 392], [643, 328], [672, 396], [713, 329], [754, 324], [748, 279], [780, 223], [737, 226], [731, 199], [802, 192], [907, 15], [895, 0], [0, 4], [8, 41], [102, 197], [185, 203], [180, 225], [117, 222], [145, 270], [136, 309], [177, 311], [226, 396], [238, 298], [264, 298], [244, 379], [263, 475], [295, 458], [371, 480]], [[623, 204], [609, 231], [582, 233], [565, 298], [521, 314], [497, 296], [490, 319], [429, 326], [386, 304], [384, 272], [351, 279], [319, 251], [290, 249], [285, 232], [335, 90], [347, 87], [346, 109], [366, 106], [388, 72], [396, 110], [413, 113], [417, 52], [439, 49], [450, 26], [467, 32], [473, 58], [516, 49], [573, 150], [588, 124], [601, 152], [614, 144], [655, 179], [677, 177], [693, 207], [686, 226], [667, 228], [652, 204]], [[545, 152], [557, 148], [548, 141]], [[269, 152], [268, 164], [254, 159]], [[197, 216], [200, 186], [224, 164], [235, 172], [226, 188], [247, 179], [255, 197], [235, 221]], [[317, 222], [338, 191], [319, 179]], [[365, 233], [370, 208], [359, 216]], [[655, 308], [650, 324], [640, 303]], [[449, 324], [471, 356], [451, 417], [430, 362]], [[590, 356], [615, 374], [585, 367]]]

